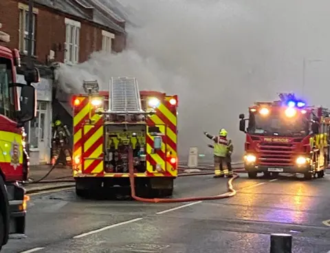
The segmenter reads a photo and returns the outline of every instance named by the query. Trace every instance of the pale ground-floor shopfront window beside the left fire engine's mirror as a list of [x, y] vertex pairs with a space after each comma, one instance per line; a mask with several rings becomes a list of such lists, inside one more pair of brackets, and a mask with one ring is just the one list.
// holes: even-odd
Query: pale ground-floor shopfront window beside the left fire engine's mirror
[[35, 149], [39, 148], [39, 142], [43, 142], [45, 138], [46, 109], [47, 102], [37, 101], [36, 118], [30, 121], [29, 142], [30, 149], [32, 148], [32, 151], [36, 151]]

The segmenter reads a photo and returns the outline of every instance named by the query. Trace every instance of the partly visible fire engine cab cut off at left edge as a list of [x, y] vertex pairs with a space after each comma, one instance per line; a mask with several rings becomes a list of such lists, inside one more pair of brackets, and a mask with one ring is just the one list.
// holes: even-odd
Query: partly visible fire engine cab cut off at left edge
[[[10, 36], [0, 31], [0, 42], [9, 41]], [[23, 125], [36, 115], [36, 92], [32, 85], [16, 83], [19, 65], [19, 52], [0, 46], [0, 250], [9, 234], [25, 232], [28, 197], [19, 182], [28, 179], [29, 157]], [[27, 73], [25, 81], [38, 83], [38, 70]]]

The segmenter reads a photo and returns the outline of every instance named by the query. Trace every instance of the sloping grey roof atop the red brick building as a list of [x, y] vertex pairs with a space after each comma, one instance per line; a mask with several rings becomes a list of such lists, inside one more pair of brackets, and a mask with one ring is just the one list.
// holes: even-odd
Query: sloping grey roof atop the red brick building
[[[113, 19], [118, 20], [119, 22], [125, 22], [124, 19], [120, 18], [113, 10], [111, 10], [108, 5], [102, 5], [99, 0], [34, 0], [36, 3], [40, 5], [44, 5], [48, 8], [52, 8], [54, 10], [58, 10], [60, 12], [72, 15], [74, 17], [78, 17], [80, 19], [85, 19], [88, 21], [92, 21], [97, 23], [98, 25], [102, 25], [104, 27], [110, 28], [116, 32], [121, 32], [126, 34], [124, 28], [115, 23]], [[81, 8], [78, 5], [81, 5]], [[83, 8], [94, 8], [93, 19], [91, 20], [87, 13], [83, 11]], [[106, 12], [103, 14], [102, 12]], [[109, 16], [109, 17], [107, 17]], [[113, 19], [111, 19], [111, 17]]]

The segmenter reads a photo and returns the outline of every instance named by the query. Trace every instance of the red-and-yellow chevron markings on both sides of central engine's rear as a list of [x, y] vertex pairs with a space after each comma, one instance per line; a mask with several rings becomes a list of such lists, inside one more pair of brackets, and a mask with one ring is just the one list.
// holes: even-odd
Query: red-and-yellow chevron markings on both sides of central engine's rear
[[[107, 96], [102, 92], [102, 96], [104, 95]], [[162, 132], [162, 150], [152, 152], [154, 137], [147, 131], [146, 173], [135, 173], [136, 177], [177, 177], [177, 107], [169, 102], [173, 98], [177, 100], [177, 96], [164, 96], [155, 115], [146, 120], [147, 127], [157, 126]], [[88, 100], [85, 96], [73, 98], [74, 177], [129, 177], [128, 173], [104, 173], [104, 122]], [[157, 164], [162, 171], [155, 172]]]

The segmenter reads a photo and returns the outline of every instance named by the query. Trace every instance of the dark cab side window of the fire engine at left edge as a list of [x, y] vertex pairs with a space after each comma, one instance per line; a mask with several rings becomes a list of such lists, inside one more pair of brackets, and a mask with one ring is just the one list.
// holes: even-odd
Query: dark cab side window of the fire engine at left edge
[[11, 120], [15, 119], [14, 89], [9, 89], [12, 83], [12, 62], [0, 58], [0, 113]]

